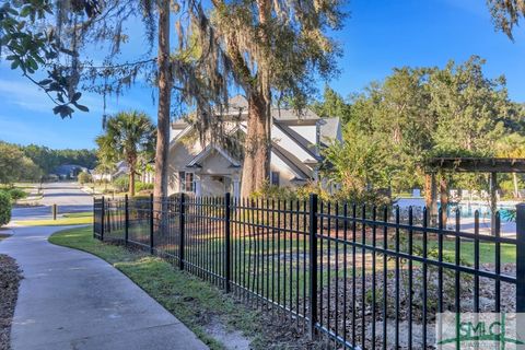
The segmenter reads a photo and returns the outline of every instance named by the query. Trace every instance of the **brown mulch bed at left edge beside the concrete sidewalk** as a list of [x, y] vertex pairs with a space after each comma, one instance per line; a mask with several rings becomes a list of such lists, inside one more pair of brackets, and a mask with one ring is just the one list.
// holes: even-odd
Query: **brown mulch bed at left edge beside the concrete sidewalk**
[[9, 350], [11, 322], [22, 279], [16, 261], [0, 254], [0, 350]]

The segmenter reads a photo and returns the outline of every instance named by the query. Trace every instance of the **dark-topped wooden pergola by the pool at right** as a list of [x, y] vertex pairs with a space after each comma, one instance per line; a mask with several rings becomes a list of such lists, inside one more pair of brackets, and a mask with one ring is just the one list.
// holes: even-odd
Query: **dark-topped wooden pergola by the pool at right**
[[[425, 162], [425, 205], [433, 218], [438, 215], [436, 173], [486, 173], [490, 174], [491, 232], [494, 233], [498, 209], [498, 173], [525, 173], [525, 159], [515, 158], [433, 158]], [[448, 188], [445, 178], [440, 179], [440, 197], [444, 208], [448, 205]]]

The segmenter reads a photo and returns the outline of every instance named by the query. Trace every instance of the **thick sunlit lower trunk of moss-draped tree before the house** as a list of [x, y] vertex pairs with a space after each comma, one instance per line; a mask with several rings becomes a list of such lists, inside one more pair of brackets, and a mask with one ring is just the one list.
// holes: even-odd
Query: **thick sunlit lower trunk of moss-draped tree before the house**
[[260, 190], [270, 175], [271, 117], [268, 103], [260, 94], [248, 96], [248, 125], [244, 148], [241, 196]]

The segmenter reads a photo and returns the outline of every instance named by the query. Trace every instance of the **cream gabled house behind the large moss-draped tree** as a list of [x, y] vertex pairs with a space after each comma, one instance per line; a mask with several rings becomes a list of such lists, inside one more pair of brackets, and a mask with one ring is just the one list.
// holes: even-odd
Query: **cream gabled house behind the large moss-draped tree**
[[[246, 135], [247, 101], [235, 96], [229, 110], [218, 115], [224, 132], [237, 143]], [[320, 148], [341, 140], [339, 118], [320, 118], [306, 109], [299, 115], [293, 109], [271, 110], [270, 180], [278, 186], [300, 186], [318, 179], [323, 161]], [[226, 191], [240, 196], [242, 155], [219, 144], [200, 142], [191, 125], [178, 120], [172, 124], [168, 155], [168, 191], [192, 192], [195, 196], [218, 196]]]

